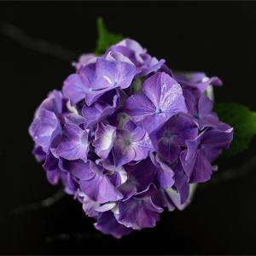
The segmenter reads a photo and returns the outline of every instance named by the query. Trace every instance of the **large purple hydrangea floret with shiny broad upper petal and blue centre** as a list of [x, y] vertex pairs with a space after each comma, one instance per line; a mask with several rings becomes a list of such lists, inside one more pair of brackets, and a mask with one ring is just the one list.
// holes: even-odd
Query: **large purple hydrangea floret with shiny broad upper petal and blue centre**
[[143, 93], [129, 97], [123, 111], [148, 133], [178, 112], [187, 112], [183, 91], [166, 73], [155, 73], [143, 83]]

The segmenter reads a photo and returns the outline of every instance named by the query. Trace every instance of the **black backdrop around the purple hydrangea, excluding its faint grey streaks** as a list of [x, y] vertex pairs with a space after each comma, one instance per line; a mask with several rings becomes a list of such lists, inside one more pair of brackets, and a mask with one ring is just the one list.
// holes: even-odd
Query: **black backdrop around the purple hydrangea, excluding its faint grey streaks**
[[256, 111], [255, 7], [255, 2], [1, 3], [0, 253], [255, 254], [255, 167], [247, 175], [224, 175], [253, 157], [255, 137], [243, 153], [216, 160], [218, 182], [212, 178], [201, 184], [189, 207], [165, 209], [154, 228], [120, 240], [95, 230], [94, 219], [84, 216], [72, 195], [51, 207], [9, 214], [61, 188], [48, 183], [34, 159], [27, 129], [48, 92], [61, 90], [74, 73], [70, 63], [77, 59], [45, 54], [28, 47], [30, 41], [20, 41], [19, 34], [6, 32], [7, 23], [15, 25], [78, 58], [96, 48], [96, 18], [102, 15], [111, 32], [137, 40], [172, 70], [222, 79], [223, 86], [214, 88], [216, 102], [237, 102]]

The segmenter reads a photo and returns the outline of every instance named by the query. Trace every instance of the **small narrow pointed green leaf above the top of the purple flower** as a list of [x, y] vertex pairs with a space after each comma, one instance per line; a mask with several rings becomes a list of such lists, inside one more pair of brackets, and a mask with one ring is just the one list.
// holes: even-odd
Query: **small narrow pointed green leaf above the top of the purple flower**
[[122, 35], [114, 34], [108, 32], [106, 26], [104, 25], [102, 17], [97, 18], [97, 28], [98, 28], [98, 41], [97, 47], [95, 49], [96, 55], [103, 55], [105, 51], [113, 44], [117, 44], [124, 39]]

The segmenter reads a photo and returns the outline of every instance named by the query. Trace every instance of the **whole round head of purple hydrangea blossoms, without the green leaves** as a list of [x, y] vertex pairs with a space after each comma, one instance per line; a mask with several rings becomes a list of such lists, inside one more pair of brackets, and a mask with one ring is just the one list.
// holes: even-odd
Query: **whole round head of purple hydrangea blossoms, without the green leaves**
[[81, 55], [29, 127], [49, 183], [61, 181], [95, 228], [116, 238], [154, 227], [164, 207], [187, 207], [190, 184], [211, 178], [233, 139], [202, 95], [221, 80], [173, 74], [165, 62], [128, 38]]

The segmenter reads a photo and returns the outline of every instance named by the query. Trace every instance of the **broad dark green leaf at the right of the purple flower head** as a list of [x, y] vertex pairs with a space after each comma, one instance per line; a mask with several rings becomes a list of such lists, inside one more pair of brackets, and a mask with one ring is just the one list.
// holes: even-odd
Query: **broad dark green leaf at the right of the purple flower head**
[[228, 150], [223, 149], [220, 156], [235, 155], [247, 149], [256, 134], [256, 113], [241, 104], [232, 102], [215, 103], [212, 112], [218, 114], [220, 121], [234, 128], [230, 148]]

